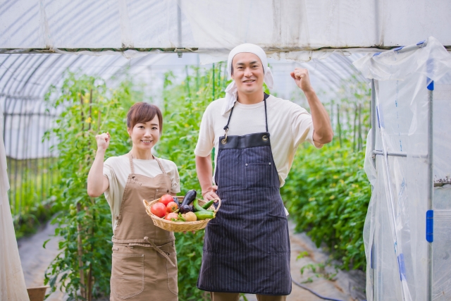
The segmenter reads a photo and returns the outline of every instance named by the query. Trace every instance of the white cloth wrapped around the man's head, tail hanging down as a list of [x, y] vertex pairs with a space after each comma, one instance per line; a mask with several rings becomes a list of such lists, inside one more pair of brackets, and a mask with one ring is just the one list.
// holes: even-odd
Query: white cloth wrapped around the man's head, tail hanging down
[[[268, 59], [266, 58], [265, 51], [261, 49], [261, 47], [255, 45], [255, 44], [241, 44], [232, 49], [230, 51], [230, 54], [228, 54], [228, 61], [227, 61], [227, 72], [229, 76], [232, 76], [232, 60], [233, 57], [237, 54], [240, 54], [242, 52], [249, 52], [251, 54], [255, 54], [259, 57], [261, 64], [263, 65], [263, 71], [264, 71], [264, 82], [268, 86], [269, 89], [273, 88], [274, 82], [273, 82], [273, 73], [271, 73], [271, 69], [268, 67]], [[237, 92], [237, 84], [235, 83], [235, 80], [230, 82], [230, 84], [226, 87], [226, 102], [224, 103], [223, 109], [221, 111], [221, 114], [224, 115], [227, 113], [230, 109], [233, 108], [235, 102], [238, 98], [238, 92]]]

